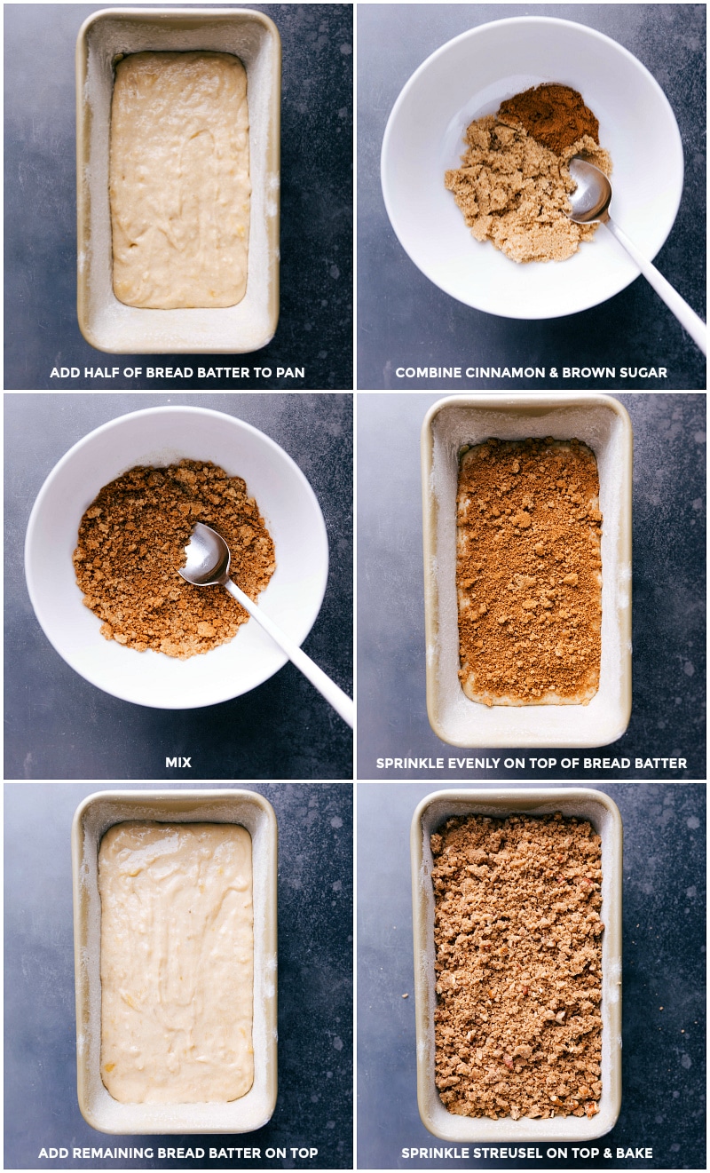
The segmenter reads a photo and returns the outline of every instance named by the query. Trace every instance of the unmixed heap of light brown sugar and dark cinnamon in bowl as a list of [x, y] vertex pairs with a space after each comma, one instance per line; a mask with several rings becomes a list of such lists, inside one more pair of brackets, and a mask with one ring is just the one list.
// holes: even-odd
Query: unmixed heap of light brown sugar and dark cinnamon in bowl
[[476, 240], [491, 240], [518, 264], [566, 260], [599, 226], [568, 215], [573, 155], [612, 174], [598, 136], [599, 123], [576, 90], [525, 90], [469, 126], [462, 165], [445, 172], [444, 184]]

